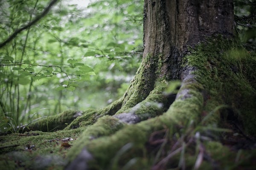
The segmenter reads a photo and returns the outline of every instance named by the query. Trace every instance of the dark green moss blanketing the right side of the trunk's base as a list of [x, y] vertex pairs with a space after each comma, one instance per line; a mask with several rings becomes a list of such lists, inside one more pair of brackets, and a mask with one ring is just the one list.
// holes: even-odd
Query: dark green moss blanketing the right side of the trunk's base
[[[206, 97], [210, 100], [205, 110], [209, 112], [227, 104], [239, 110], [247, 133], [256, 135], [256, 71], [252, 69], [256, 61], [250, 52], [230, 40], [215, 37], [196, 46], [183, 62], [185, 67], [196, 68], [196, 80], [207, 91]], [[217, 120], [217, 116], [214, 119]]]

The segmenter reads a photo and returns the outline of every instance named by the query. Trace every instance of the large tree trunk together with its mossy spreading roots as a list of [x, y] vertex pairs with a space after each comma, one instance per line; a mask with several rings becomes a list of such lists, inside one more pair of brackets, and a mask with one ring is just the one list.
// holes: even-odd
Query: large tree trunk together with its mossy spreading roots
[[237, 133], [251, 144], [256, 135], [256, 74], [248, 74], [256, 62], [233, 27], [232, 0], [145, 0], [143, 61], [125, 95], [75, 119], [78, 112], [39, 120], [29, 130], [74, 119], [62, 130], [82, 131], [66, 170], [225, 169], [250, 162], [255, 152], [238, 158], [220, 143], [230, 142], [226, 135], [240, 144]]

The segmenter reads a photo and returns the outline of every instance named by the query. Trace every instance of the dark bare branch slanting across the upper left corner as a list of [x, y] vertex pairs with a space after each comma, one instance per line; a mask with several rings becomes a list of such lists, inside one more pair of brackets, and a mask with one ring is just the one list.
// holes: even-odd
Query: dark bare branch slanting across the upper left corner
[[10, 35], [7, 40], [5, 40], [4, 42], [0, 43], [0, 48], [2, 48], [3, 46], [5, 46], [7, 43], [9, 43], [13, 38], [15, 38], [17, 36], [18, 33], [22, 32], [24, 29], [29, 28], [30, 26], [34, 25], [36, 22], [38, 22], [42, 17], [44, 17], [49, 10], [51, 9], [51, 7], [57, 2], [58, 0], [52, 0], [49, 5], [47, 6], [47, 8], [44, 9], [44, 11], [38, 15], [37, 17], [35, 17], [34, 20], [32, 20], [31, 22], [29, 22], [28, 24], [26, 24], [25, 26], [21, 27], [20, 29], [17, 29], [14, 33], [12, 33], [12, 35]]

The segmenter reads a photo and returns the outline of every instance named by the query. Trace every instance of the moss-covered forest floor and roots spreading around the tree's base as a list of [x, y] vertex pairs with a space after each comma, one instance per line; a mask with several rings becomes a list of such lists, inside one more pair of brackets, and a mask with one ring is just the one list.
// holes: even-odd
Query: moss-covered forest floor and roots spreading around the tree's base
[[104, 109], [67, 111], [26, 127], [41, 131], [0, 136], [0, 167], [253, 170], [255, 68], [255, 54], [212, 37], [183, 58], [181, 84], [162, 78], [148, 92], [138, 71], [132, 90]]

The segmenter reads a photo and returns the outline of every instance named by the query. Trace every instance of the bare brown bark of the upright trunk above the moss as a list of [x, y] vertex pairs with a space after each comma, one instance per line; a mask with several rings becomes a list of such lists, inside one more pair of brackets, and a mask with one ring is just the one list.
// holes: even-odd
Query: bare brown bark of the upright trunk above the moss
[[145, 0], [144, 4], [143, 58], [151, 54], [163, 62], [156, 67], [160, 68], [156, 77], [180, 79], [188, 47], [212, 35], [233, 36], [233, 0]]

